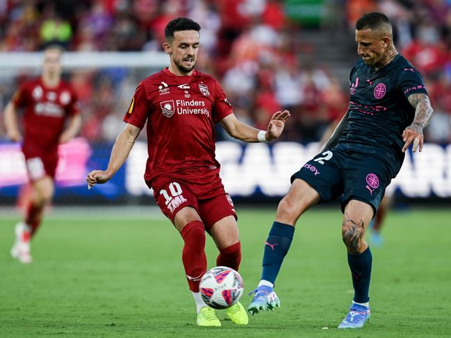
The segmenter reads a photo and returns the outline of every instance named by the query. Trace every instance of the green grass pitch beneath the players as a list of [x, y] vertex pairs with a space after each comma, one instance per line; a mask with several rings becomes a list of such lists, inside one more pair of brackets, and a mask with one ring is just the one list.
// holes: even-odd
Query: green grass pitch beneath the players
[[[238, 208], [245, 307], [274, 209]], [[384, 245], [372, 248], [372, 318], [362, 330], [338, 331], [352, 298], [338, 208], [314, 208], [298, 222], [277, 280], [281, 308], [251, 316], [245, 327], [218, 311], [221, 328], [195, 326], [183, 242], [163, 217], [102, 208], [58, 214], [56, 207], [35, 237], [33, 264], [24, 266], [9, 255], [19, 216], [3, 216], [0, 336], [450, 337], [450, 219], [449, 210], [388, 214]], [[210, 239], [206, 250], [213, 267]]]

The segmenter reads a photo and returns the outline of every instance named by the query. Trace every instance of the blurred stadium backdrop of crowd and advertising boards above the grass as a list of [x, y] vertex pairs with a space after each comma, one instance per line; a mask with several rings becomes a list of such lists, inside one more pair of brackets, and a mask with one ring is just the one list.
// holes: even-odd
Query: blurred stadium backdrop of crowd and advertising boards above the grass
[[[218, 128], [218, 158], [231, 195], [243, 202], [276, 200], [347, 108], [349, 71], [358, 60], [354, 22], [369, 10], [391, 18], [397, 49], [425, 76], [434, 107], [424, 153], [408, 154], [388, 193], [402, 203], [448, 203], [450, 1], [0, 1], [0, 111], [24, 79], [39, 73], [39, 51], [62, 45], [64, 77], [81, 100], [83, 127], [61, 147], [54, 203], [152, 204], [142, 180], [145, 132], [110, 183], [88, 192], [84, 177], [106, 167], [137, 83], [167, 65], [165, 24], [192, 17], [202, 25], [197, 69], [220, 80], [239, 119], [265, 129], [272, 112], [292, 114], [275, 144], [240, 144]], [[11, 205], [17, 194], [26, 196], [26, 170], [19, 146], [1, 130], [0, 201]]]

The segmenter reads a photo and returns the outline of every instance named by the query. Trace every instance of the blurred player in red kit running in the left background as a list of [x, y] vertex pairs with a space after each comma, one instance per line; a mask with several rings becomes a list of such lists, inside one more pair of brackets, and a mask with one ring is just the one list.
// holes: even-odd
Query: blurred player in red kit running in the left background
[[[31, 238], [41, 223], [45, 206], [54, 196], [58, 144], [71, 140], [81, 126], [76, 96], [61, 80], [62, 53], [59, 47], [45, 49], [42, 76], [23, 83], [5, 108], [6, 133], [10, 140], [23, 142], [22, 152], [33, 188], [24, 221], [15, 227], [16, 240], [11, 249], [11, 255], [22, 263], [31, 262]], [[23, 137], [17, 108], [24, 108]]]

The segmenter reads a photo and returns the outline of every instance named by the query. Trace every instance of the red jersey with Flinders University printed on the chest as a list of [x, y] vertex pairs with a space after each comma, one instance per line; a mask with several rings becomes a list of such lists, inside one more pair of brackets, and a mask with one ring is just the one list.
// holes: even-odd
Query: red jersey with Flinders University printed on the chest
[[145, 78], [124, 121], [138, 128], [147, 121], [147, 184], [169, 176], [222, 186], [214, 124], [231, 113], [222, 88], [209, 75], [176, 76], [163, 69]]

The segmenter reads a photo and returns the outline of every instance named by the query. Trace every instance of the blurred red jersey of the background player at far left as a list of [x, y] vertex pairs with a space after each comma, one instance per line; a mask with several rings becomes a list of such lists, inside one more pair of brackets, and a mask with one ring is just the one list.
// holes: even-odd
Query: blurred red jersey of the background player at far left
[[40, 78], [25, 82], [13, 96], [16, 107], [24, 107], [24, 144], [28, 155], [56, 152], [65, 119], [79, 112], [72, 89], [60, 81], [46, 87]]

